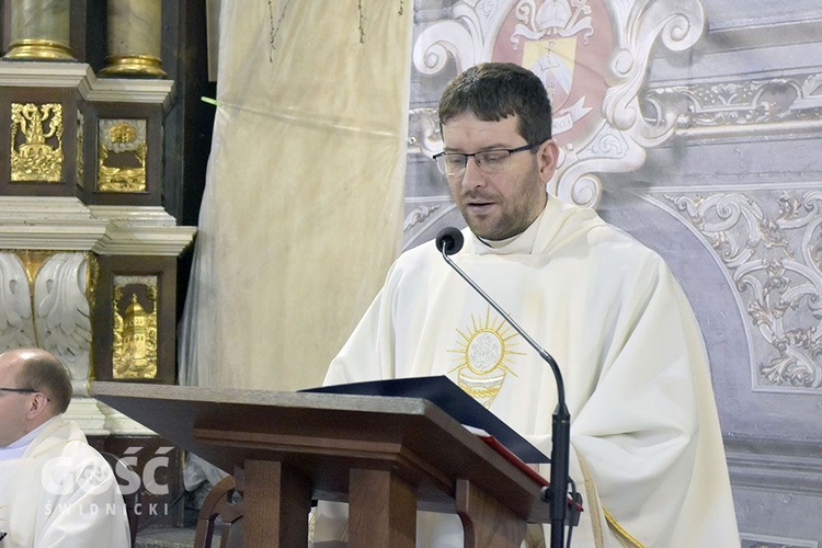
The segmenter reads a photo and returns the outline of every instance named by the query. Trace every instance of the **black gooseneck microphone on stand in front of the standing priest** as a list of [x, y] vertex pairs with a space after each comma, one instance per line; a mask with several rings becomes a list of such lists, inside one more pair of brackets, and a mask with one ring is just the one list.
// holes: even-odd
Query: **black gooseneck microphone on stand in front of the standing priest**
[[[523, 331], [520, 324], [516, 323], [500, 305], [489, 297], [488, 294], [448, 256], [463, 249], [464, 242], [465, 238], [463, 237], [463, 232], [454, 227], [446, 227], [439, 230], [435, 240], [436, 249], [443, 254], [443, 260], [448, 263], [448, 266], [454, 269], [454, 271], [459, 274], [459, 276], [465, 279], [475, 292], [491, 305], [491, 307], [493, 307], [493, 309], [496, 310], [535, 351], [537, 351], [537, 354], [548, 363], [553, 373], [553, 379], [557, 384], [557, 409], [553, 411], [551, 422], [551, 486], [549, 488], [543, 488], [540, 498], [544, 502], [550, 503], [550, 546], [551, 548], [562, 548], [567, 511], [566, 505], [568, 504], [568, 486], [572, 483], [571, 478], [568, 476], [568, 463], [571, 452], [571, 413], [569, 413], [568, 407], [566, 406], [566, 386], [562, 381], [562, 373], [559, 370], [559, 365], [557, 365], [553, 356], [539, 346], [528, 333]], [[580, 520], [579, 513], [575, 510], [576, 503], [581, 501], [581, 496], [575, 492], [575, 489], [571, 500], [573, 515], [569, 523], [569, 541], [571, 527], [578, 525]]]

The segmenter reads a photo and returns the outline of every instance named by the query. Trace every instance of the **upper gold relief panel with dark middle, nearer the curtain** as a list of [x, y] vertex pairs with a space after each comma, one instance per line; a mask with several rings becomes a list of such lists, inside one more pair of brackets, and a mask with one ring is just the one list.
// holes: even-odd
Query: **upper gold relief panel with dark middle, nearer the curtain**
[[145, 119], [101, 119], [98, 191], [146, 192]]

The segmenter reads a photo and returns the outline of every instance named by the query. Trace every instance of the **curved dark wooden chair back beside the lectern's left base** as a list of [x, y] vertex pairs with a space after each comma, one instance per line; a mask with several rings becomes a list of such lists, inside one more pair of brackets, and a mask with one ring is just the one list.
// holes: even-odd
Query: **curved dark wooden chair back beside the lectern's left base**
[[222, 478], [203, 502], [194, 536], [194, 548], [212, 548], [215, 525], [220, 521], [220, 548], [242, 546], [242, 501], [232, 476]]

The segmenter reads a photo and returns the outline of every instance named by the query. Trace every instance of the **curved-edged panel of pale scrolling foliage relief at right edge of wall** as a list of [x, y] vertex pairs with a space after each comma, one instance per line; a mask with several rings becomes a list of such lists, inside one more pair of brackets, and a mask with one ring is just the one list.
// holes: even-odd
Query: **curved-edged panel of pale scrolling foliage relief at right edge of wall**
[[754, 390], [818, 393], [822, 191], [667, 192], [647, 199], [683, 218], [732, 283], [753, 345]]

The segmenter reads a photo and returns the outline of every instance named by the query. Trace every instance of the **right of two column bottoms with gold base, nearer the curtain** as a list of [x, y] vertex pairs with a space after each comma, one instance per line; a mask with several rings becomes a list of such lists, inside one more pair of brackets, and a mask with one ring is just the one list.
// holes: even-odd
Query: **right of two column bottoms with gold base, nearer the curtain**
[[162, 78], [161, 0], [109, 0], [109, 56], [102, 75]]

